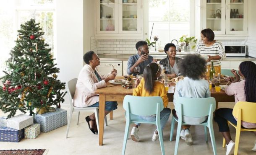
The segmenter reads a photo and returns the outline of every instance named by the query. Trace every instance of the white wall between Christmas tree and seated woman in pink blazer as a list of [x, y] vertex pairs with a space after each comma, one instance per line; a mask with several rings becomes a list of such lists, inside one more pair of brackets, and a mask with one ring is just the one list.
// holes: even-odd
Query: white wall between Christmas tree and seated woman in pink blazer
[[[58, 79], [67, 83], [83, 67], [83, 0], [57, 0], [56, 42]], [[64, 104], [69, 104], [67, 95]]]

